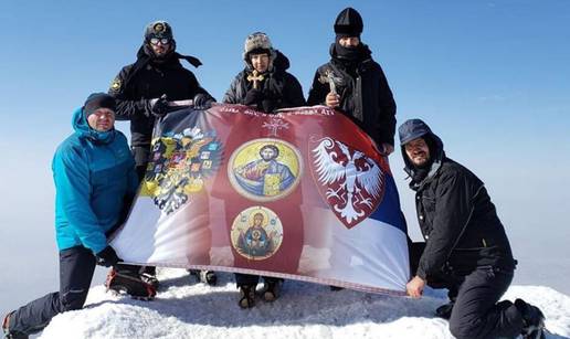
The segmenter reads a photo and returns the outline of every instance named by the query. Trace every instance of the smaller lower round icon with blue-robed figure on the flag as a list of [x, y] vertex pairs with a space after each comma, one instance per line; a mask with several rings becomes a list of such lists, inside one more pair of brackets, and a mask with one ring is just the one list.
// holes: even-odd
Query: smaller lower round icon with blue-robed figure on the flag
[[263, 261], [279, 250], [283, 242], [283, 225], [272, 210], [252, 206], [235, 216], [230, 237], [233, 248], [241, 256]]

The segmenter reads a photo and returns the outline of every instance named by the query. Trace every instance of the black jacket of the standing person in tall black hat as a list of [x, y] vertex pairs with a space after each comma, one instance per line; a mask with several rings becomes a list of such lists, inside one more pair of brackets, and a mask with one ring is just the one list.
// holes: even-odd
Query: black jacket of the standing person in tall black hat
[[362, 128], [374, 142], [394, 145], [395, 130], [395, 102], [392, 91], [382, 67], [374, 62], [368, 52], [357, 66], [356, 74], [351, 75], [345, 64], [337, 59], [334, 49], [330, 47], [330, 62], [318, 67], [313, 80], [307, 104], [325, 105], [325, 98], [330, 92], [326, 78], [327, 72], [332, 72], [337, 81], [335, 85], [340, 95], [340, 109]]

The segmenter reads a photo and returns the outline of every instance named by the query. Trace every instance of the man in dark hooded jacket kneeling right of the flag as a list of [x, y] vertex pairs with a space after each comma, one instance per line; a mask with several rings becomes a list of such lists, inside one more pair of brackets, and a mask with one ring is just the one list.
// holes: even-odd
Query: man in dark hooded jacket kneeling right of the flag
[[411, 244], [408, 294], [421, 297], [426, 284], [447, 288], [451, 301], [436, 314], [450, 319], [456, 338], [543, 336], [540, 309], [522, 299], [497, 303], [517, 262], [483, 182], [445, 156], [424, 121], [408, 120], [399, 134], [425, 240]]

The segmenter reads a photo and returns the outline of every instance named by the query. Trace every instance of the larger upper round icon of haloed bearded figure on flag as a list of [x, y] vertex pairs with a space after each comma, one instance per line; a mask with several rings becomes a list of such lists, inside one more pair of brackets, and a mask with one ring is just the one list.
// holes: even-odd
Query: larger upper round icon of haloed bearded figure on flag
[[232, 187], [254, 201], [274, 201], [297, 187], [300, 152], [289, 142], [262, 138], [245, 142], [230, 157], [228, 177]]

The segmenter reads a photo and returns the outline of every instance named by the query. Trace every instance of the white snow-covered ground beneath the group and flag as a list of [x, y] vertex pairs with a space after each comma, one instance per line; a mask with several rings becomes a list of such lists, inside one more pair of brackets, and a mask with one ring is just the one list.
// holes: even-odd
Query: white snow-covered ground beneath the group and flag
[[[182, 269], [161, 269], [154, 301], [89, 292], [87, 306], [55, 317], [41, 338], [452, 338], [447, 321], [433, 310], [443, 290], [420, 300], [288, 280], [273, 304], [257, 300], [242, 310], [233, 276], [219, 273], [219, 286], [196, 283]], [[549, 287], [511, 286], [504, 296], [539, 306], [551, 332], [570, 337], [570, 297]]]

